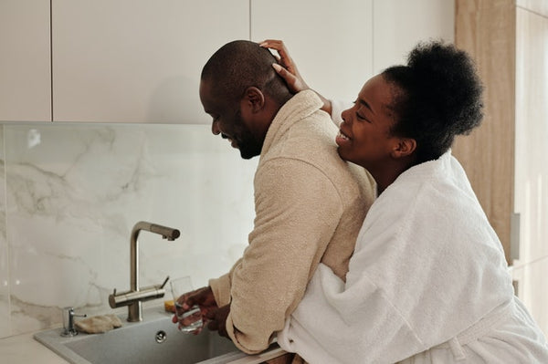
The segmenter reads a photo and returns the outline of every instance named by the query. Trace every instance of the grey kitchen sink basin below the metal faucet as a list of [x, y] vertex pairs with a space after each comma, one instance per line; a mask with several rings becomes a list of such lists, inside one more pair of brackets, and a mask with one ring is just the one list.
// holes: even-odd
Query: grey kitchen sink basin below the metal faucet
[[[126, 322], [125, 316], [121, 320], [121, 328], [104, 334], [63, 338], [57, 328], [38, 332], [34, 338], [74, 364], [251, 362], [248, 359], [252, 357], [215, 332], [204, 330], [197, 336], [179, 332], [171, 315], [161, 308], [145, 309], [142, 322]], [[269, 352], [276, 350], [280, 349], [270, 348]]]

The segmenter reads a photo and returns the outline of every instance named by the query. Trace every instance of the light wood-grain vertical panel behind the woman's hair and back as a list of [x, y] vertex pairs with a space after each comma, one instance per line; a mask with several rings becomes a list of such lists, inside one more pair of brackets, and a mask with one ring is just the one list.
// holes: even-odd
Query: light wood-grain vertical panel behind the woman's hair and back
[[455, 156], [501, 238], [510, 262], [514, 191], [515, 17], [513, 0], [457, 0], [455, 43], [476, 60], [485, 86], [485, 118], [459, 138]]

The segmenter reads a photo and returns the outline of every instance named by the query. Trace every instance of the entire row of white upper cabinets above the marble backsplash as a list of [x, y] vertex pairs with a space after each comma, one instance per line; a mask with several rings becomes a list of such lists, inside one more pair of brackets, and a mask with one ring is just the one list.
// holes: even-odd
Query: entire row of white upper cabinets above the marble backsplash
[[452, 41], [453, 16], [454, 0], [0, 0], [0, 121], [209, 123], [200, 72], [235, 39], [284, 40], [311, 88], [352, 102], [419, 40]]

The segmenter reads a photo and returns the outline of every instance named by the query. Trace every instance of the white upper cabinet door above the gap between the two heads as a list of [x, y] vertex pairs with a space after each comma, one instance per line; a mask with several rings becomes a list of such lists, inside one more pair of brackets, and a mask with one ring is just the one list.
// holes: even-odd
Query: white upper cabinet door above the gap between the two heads
[[373, 0], [251, 0], [251, 40], [281, 39], [328, 99], [355, 99], [372, 76]]

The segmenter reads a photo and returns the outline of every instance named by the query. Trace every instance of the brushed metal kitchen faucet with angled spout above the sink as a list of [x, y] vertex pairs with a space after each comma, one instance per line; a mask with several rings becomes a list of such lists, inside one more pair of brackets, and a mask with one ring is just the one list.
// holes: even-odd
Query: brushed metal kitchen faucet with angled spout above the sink
[[130, 241], [130, 290], [116, 294], [116, 288], [114, 288], [114, 292], [109, 296], [111, 308], [128, 307], [128, 321], [130, 322], [142, 321], [142, 302], [163, 297], [165, 295], [163, 286], [169, 279], [169, 276], [165, 278], [162, 285], [139, 288], [139, 243], [137, 238], [142, 230], [160, 234], [163, 239], [168, 241], [174, 241], [181, 234], [177, 229], [144, 221], [133, 226]]

